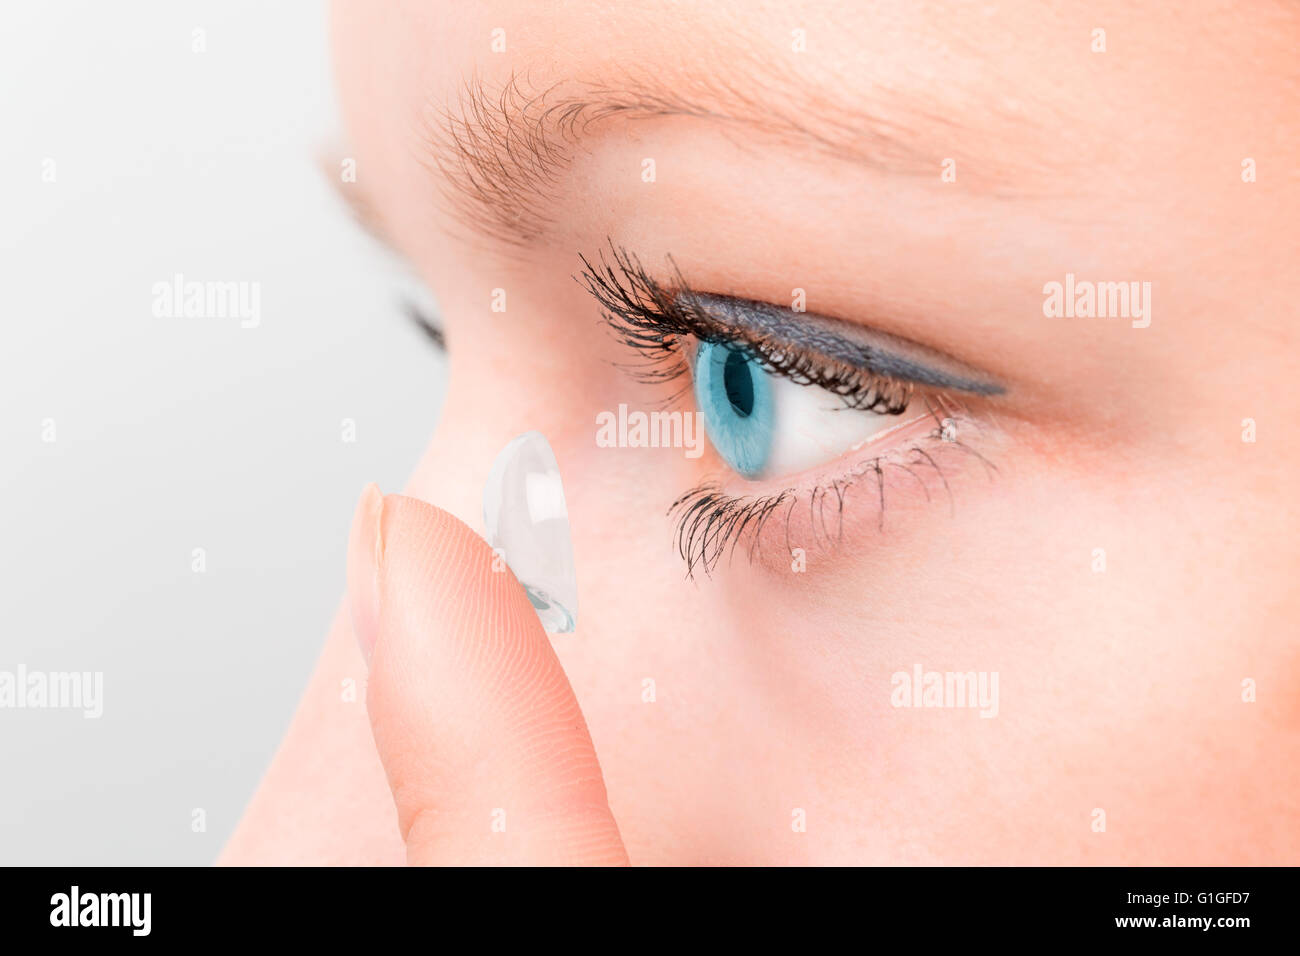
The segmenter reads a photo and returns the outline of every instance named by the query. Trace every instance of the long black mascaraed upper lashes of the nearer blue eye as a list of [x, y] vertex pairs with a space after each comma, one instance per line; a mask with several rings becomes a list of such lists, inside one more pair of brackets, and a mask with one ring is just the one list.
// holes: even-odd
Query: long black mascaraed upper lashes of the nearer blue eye
[[672, 258], [672, 286], [664, 286], [641, 265], [641, 260], [608, 243], [612, 264], [601, 251], [599, 265], [585, 255], [577, 277], [601, 306], [602, 315], [619, 339], [641, 352], [647, 362], [630, 371], [642, 381], [668, 382], [685, 375], [688, 365], [679, 347], [692, 336], [705, 342], [744, 349], [766, 371], [796, 385], [815, 386], [838, 397], [849, 408], [880, 415], [900, 415], [913, 397], [911, 382], [849, 368], [831, 359], [783, 347], [723, 323], [694, 302], [692, 289]]

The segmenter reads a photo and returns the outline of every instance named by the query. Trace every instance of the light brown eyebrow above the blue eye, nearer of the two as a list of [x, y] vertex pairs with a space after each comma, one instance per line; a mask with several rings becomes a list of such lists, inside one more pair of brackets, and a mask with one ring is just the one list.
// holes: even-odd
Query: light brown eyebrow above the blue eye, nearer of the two
[[[760, 73], [762, 72], [762, 73]], [[619, 85], [558, 82], [536, 90], [517, 73], [497, 90], [476, 75], [450, 108], [429, 107], [421, 157], [463, 222], [500, 242], [528, 246], [554, 225], [559, 189], [576, 150], [608, 121], [694, 117], [731, 130], [771, 137], [867, 169], [933, 177], [945, 160], [963, 165], [963, 189], [998, 196], [1024, 191], [1039, 165], [1023, 146], [1040, 130], [1015, 112], [1002, 113], [1005, 161], [991, 165], [958, 147], [970, 130], [915, 94], [874, 90], [880, 107], [835, 103], [831, 90], [774, 75], [755, 64], [750, 88], [696, 78], [670, 86], [630, 74]], [[994, 111], [996, 113], [997, 111]], [[1009, 140], [1009, 142], [1008, 142]]]

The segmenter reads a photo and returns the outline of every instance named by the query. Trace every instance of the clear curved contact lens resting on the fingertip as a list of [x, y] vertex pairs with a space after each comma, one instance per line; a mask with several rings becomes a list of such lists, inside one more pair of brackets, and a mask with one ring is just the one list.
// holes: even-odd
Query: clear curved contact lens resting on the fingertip
[[484, 485], [488, 544], [528, 592], [542, 627], [577, 626], [577, 576], [564, 485], [546, 436], [525, 432], [497, 455]]

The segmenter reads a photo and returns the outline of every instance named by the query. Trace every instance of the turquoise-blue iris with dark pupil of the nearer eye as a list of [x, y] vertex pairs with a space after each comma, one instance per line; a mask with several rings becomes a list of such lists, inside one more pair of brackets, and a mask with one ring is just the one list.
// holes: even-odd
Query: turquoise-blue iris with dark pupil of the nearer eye
[[696, 403], [727, 464], [745, 477], [759, 475], [775, 434], [768, 373], [738, 349], [702, 342], [696, 354]]

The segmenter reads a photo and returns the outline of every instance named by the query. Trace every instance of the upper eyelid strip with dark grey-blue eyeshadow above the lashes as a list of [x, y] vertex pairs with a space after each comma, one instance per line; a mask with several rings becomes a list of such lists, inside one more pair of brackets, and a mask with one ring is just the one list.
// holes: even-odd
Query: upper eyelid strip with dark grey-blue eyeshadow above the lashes
[[815, 352], [870, 375], [975, 395], [1006, 392], [989, 376], [942, 352], [842, 319], [708, 293], [682, 291], [676, 299], [767, 343]]

